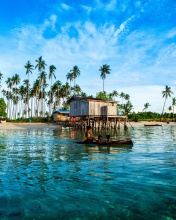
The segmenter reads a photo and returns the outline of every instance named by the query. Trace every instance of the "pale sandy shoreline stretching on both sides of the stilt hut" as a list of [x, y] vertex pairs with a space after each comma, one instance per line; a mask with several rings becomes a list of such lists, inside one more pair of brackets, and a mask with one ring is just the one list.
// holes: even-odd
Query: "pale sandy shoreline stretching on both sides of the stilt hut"
[[[140, 121], [140, 122], [128, 122], [127, 126], [130, 127], [136, 127], [136, 126], [144, 126], [144, 124], [147, 125], [155, 125], [159, 124], [162, 126], [169, 126], [169, 125], [176, 125], [176, 122], [170, 122], [169, 124], [166, 122], [146, 122], [146, 121]], [[121, 124], [121, 127], [123, 125]], [[56, 123], [9, 123], [4, 122], [0, 123], [0, 130], [24, 130], [24, 129], [39, 129], [39, 128], [54, 128], [54, 129], [61, 129], [60, 125], [57, 125]]]

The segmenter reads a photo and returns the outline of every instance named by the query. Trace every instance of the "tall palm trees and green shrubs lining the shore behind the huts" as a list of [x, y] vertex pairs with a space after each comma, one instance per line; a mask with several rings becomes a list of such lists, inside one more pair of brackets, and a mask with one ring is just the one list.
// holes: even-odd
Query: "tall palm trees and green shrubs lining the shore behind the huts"
[[[105, 79], [111, 73], [110, 66], [104, 64], [100, 66], [100, 77], [103, 81], [103, 90], [98, 92], [94, 97], [88, 95], [76, 84], [77, 77], [81, 71], [77, 65], [66, 74], [67, 82], [63, 84], [56, 77], [56, 67], [49, 66], [40, 56], [36, 64], [32, 65], [27, 61], [24, 66], [27, 78], [21, 82], [18, 74], [11, 78], [4, 79], [3, 73], [0, 72], [0, 91], [3, 97], [0, 98], [0, 117], [8, 122], [52, 122], [53, 113], [58, 110], [68, 110], [68, 100], [72, 96], [100, 98], [103, 100], [114, 100], [118, 97], [121, 103], [118, 103], [117, 114], [127, 116], [129, 121], [175, 121], [174, 108], [176, 98], [172, 97], [173, 93], [169, 86], [165, 86], [161, 92], [164, 98], [164, 104], [161, 114], [147, 111], [149, 103], [144, 103], [141, 112], [133, 111], [133, 104], [130, 101], [130, 95], [124, 92], [113, 90], [107, 93], [104, 89]], [[38, 72], [36, 79], [31, 75], [33, 71]], [[32, 80], [31, 80], [32, 76]], [[3, 88], [2, 82], [5, 81], [7, 89]], [[73, 82], [73, 85], [72, 85]], [[32, 84], [33, 83], [33, 84]], [[166, 100], [170, 98], [171, 103], [165, 111]]]

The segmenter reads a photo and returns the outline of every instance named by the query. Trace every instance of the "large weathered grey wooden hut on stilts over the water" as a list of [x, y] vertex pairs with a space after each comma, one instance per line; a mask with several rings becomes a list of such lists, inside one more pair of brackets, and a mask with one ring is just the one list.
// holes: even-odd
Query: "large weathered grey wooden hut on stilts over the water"
[[[88, 124], [93, 128], [116, 127], [122, 118], [126, 125], [126, 116], [117, 115], [117, 102], [99, 98], [72, 97], [70, 117], [79, 118], [80, 127]], [[77, 121], [77, 120], [76, 120]], [[120, 123], [118, 124], [120, 126]]]

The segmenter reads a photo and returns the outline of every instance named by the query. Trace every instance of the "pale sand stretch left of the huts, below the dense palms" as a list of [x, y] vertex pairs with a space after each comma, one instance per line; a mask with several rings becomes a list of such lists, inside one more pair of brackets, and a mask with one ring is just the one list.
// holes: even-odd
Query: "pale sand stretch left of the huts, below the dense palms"
[[0, 130], [24, 130], [24, 129], [38, 129], [38, 128], [54, 128], [61, 129], [60, 125], [56, 123], [0, 123]]

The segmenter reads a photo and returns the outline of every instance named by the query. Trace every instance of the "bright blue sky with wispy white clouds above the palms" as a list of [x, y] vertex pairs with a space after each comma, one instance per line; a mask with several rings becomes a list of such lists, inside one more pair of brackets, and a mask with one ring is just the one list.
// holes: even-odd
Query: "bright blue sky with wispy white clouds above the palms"
[[42, 56], [65, 83], [78, 65], [77, 84], [95, 95], [99, 68], [108, 64], [107, 92], [129, 94], [136, 111], [148, 102], [161, 112], [166, 85], [176, 97], [175, 15], [175, 0], [1, 0], [0, 71], [4, 81], [16, 73], [23, 80], [26, 62]]

